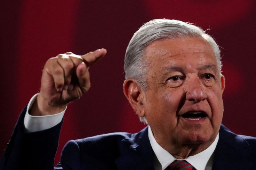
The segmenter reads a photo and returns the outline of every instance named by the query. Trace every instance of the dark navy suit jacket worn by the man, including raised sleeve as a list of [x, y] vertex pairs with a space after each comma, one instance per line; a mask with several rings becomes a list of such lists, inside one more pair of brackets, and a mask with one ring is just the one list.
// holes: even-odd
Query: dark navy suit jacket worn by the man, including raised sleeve
[[[53, 169], [62, 122], [51, 129], [26, 133], [25, 110], [2, 156], [0, 169]], [[111, 133], [71, 140], [54, 169], [153, 170], [153, 160], [147, 127], [136, 134]], [[256, 138], [236, 135], [221, 125], [212, 169], [256, 169]]]

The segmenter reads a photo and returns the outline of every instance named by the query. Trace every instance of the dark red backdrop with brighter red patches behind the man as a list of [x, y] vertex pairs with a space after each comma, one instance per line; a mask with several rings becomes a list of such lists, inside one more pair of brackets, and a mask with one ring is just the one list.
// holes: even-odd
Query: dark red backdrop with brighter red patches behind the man
[[124, 53], [133, 33], [155, 18], [211, 28], [226, 77], [223, 123], [256, 136], [255, 10], [253, 0], [1, 1], [0, 154], [20, 111], [39, 91], [44, 63], [67, 51], [106, 48], [108, 54], [90, 69], [89, 92], [68, 106], [55, 162], [69, 139], [144, 127], [123, 95]]

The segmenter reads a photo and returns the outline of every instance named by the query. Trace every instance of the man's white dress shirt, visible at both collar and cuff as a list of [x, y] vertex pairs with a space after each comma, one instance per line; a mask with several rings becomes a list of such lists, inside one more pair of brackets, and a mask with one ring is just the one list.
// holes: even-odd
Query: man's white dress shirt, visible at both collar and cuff
[[[52, 128], [53, 126], [57, 125], [61, 122], [64, 113], [67, 109], [63, 110], [62, 112], [55, 114], [55, 115], [47, 115], [47, 116], [32, 116], [29, 115], [28, 111], [30, 110], [32, 104], [36, 100], [38, 93], [35, 94], [29, 101], [26, 115], [24, 118], [24, 126], [27, 132], [36, 132], [40, 130], [45, 130]], [[170, 165], [174, 160], [177, 160], [172, 154], [168, 151], [164, 150], [154, 138], [152, 130], [150, 126], [148, 126], [148, 138], [151, 144], [151, 147], [155, 153], [155, 160], [154, 165], [156, 170], [164, 170], [168, 165]], [[188, 158], [184, 159], [188, 163], [190, 163], [196, 170], [211, 170], [212, 169], [212, 162], [213, 162], [213, 152], [216, 148], [216, 145], [219, 140], [219, 134], [215, 138], [214, 142], [203, 152], [200, 152], [196, 155], [189, 156]]]

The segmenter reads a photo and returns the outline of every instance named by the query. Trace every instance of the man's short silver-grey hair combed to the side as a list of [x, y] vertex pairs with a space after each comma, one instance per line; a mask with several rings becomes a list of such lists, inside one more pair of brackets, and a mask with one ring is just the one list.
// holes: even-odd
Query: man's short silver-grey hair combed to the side
[[[153, 19], [143, 24], [129, 42], [124, 58], [125, 78], [135, 79], [142, 90], [146, 91], [148, 84], [145, 75], [148, 61], [143, 57], [145, 48], [154, 41], [173, 40], [184, 36], [201, 37], [206, 40], [214, 51], [218, 70], [221, 73], [220, 49], [215, 40], [202, 28], [173, 19]], [[145, 116], [140, 117], [140, 121], [147, 123]]]

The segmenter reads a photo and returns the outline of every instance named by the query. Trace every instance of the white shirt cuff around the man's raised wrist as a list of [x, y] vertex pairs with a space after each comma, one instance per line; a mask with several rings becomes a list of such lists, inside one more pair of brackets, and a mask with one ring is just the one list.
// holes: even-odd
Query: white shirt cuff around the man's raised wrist
[[46, 116], [32, 116], [29, 115], [28, 110], [33, 105], [36, 97], [39, 93], [35, 94], [28, 103], [26, 115], [24, 118], [24, 127], [26, 132], [36, 132], [40, 130], [50, 129], [53, 126], [59, 124], [64, 116], [64, 113], [67, 107], [60, 113], [55, 115], [46, 115]]

